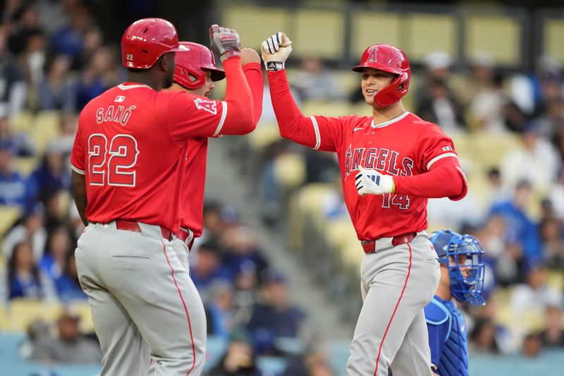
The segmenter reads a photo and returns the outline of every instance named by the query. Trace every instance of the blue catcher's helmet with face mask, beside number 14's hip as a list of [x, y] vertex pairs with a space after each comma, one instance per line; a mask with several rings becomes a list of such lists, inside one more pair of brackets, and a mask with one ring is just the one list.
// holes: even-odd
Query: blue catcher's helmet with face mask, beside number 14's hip
[[484, 248], [477, 238], [440, 230], [431, 235], [439, 262], [446, 265], [450, 276], [450, 293], [459, 302], [484, 305]]

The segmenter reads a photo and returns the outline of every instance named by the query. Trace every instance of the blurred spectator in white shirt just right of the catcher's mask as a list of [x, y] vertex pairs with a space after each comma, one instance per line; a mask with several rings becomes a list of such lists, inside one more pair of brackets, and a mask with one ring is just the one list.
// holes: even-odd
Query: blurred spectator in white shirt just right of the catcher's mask
[[527, 283], [515, 286], [511, 293], [511, 310], [515, 317], [527, 312], [541, 317], [549, 306], [562, 304], [562, 293], [547, 282], [548, 270], [543, 262], [530, 262], [526, 275]]

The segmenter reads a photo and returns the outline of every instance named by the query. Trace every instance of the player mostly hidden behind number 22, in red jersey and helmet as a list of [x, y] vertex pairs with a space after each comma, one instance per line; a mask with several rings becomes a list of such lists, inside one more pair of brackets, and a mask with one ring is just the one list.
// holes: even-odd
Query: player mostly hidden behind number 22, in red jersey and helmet
[[[253, 119], [257, 123], [262, 113], [263, 95], [260, 57], [254, 49], [243, 48], [240, 51], [240, 58], [243, 73], [252, 93]], [[170, 90], [185, 90], [193, 95], [199, 95], [202, 101], [207, 100], [205, 97], [209, 97], [212, 93], [214, 81], [223, 80], [225, 77], [225, 73], [215, 65], [212, 51], [202, 44], [180, 42], [175, 62], [174, 83]], [[185, 147], [187, 163], [180, 207], [180, 229], [173, 245], [187, 269], [190, 245], [195, 238], [202, 235], [207, 142], [207, 137], [190, 138]]]

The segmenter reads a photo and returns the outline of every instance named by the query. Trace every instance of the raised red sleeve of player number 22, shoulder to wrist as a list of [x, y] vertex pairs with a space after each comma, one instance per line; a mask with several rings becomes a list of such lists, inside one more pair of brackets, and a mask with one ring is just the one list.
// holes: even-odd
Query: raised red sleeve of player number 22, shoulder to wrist
[[244, 135], [255, 129], [252, 97], [243, 75], [240, 58], [233, 56], [223, 61], [226, 73], [226, 100], [216, 101], [174, 90], [169, 95], [168, 131], [171, 138], [181, 142], [192, 137], [216, 135]]

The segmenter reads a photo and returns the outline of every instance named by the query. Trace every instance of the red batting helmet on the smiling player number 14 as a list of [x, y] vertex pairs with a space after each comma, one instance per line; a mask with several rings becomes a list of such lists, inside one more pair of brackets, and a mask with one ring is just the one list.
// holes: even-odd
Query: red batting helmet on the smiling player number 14
[[394, 104], [407, 94], [411, 78], [410, 62], [398, 47], [389, 44], [372, 44], [364, 51], [360, 65], [355, 66], [353, 71], [362, 72], [364, 68], [379, 69], [398, 75], [390, 85], [374, 95], [374, 102], [380, 106]]

